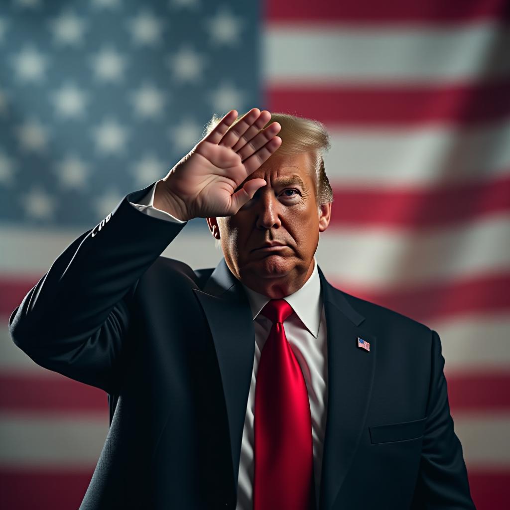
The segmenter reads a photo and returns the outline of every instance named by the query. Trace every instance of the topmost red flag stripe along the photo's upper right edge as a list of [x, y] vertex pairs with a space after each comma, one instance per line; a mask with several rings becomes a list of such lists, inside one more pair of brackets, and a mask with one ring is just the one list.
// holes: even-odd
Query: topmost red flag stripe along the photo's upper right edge
[[359, 2], [349, 0], [280, 0], [264, 2], [263, 18], [269, 23], [396, 23], [452, 22], [486, 18], [510, 18], [506, 0], [392, 0]]

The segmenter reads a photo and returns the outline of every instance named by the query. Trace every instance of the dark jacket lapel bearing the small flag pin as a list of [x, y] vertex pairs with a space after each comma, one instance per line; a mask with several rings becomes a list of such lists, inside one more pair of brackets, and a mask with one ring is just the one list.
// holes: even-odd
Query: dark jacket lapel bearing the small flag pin
[[[327, 415], [319, 510], [333, 506], [358, 447], [368, 411], [376, 360], [376, 337], [359, 325], [344, 293], [331, 286], [320, 267], [327, 330]], [[358, 337], [370, 351], [358, 347]]]

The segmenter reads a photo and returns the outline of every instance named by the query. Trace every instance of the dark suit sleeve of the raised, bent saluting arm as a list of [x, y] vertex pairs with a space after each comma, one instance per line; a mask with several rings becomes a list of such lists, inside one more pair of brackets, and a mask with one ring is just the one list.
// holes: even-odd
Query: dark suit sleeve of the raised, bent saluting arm
[[12, 312], [12, 340], [38, 365], [118, 393], [138, 279], [186, 224], [133, 207], [151, 186], [71, 242]]

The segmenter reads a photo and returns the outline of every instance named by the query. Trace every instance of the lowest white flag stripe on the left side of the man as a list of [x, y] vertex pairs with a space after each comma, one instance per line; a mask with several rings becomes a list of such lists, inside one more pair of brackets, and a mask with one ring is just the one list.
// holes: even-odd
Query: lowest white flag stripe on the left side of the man
[[108, 417], [2, 413], [0, 464], [95, 466], [108, 429]]

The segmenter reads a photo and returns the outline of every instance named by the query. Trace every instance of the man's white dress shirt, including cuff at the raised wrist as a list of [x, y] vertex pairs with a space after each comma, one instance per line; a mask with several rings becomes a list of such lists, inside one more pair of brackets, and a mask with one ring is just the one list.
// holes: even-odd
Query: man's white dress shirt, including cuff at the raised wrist
[[[171, 214], [154, 207], [154, 185], [140, 203], [130, 202], [131, 205], [149, 216], [160, 219], [186, 223]], [[252, 510], [253, 508], [253, 411], [255, 404], [255, 386], [260, 354], [269, 331], [271, 321], [260, 315], [269, 298], [246, 287], [253, 326], [255, 329], [255, 356], [253, 371], [246, 405], [243, 437], [241, 442], [241, 458], [239, 463], [238, 496], [236, 510]], [[319, 487], [322, 467], [322, 448], [326, 426], [327, 409], [327, 343], [326, 317], [322, 295], [320, 292], [320, 278], [317, 270], [317, 260], [314, 256], [314, 270], [304, 285], [285, 300], [291, 305], [292, 313], [284, 322], [285, 334], [292, 351], [303, 372], [307, 385], [312, 416], [312, 442], [314, 454], [315, 494], [317, 508], [319, 506]]]

